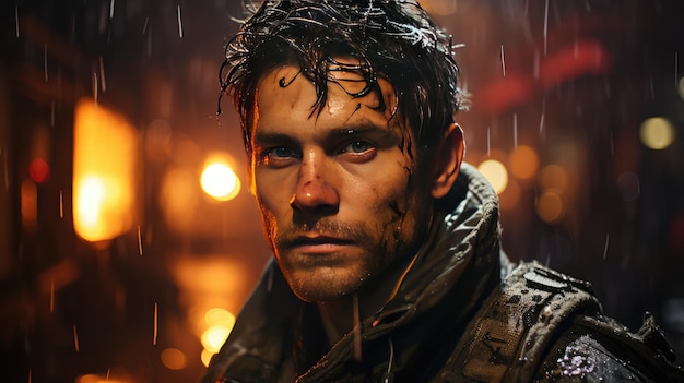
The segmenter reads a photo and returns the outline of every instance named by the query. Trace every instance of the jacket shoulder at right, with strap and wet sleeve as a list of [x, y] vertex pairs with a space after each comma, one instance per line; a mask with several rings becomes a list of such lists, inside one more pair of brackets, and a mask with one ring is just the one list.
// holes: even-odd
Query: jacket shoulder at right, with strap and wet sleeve
[[438, 381], [682, 382], [668, 349], [652, 319], [632, 334], [603, 315], [589, 283], [521, 263], [483, 302]]

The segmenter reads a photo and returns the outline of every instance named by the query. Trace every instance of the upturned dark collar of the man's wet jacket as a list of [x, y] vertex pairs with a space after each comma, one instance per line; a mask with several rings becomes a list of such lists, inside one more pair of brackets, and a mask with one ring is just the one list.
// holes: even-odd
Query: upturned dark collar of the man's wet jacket
[[[362, 382], [388, 371], [423, 380], [439, 369], [439, 355], [429, 354], [444, 349], [448, 357], [468, 319], [510, 263], [499, 244], [498, 199], [472, 166], [462, 165], [435, 211], [428, 238], [393, 298], [297, 382]], [[299, 342], [291, 334], [306, 304], [271, 260], [202, 382], [292, 381], [292, 349]], [[361, 333], [362, 361], [354, 361], [354, 333]]]

